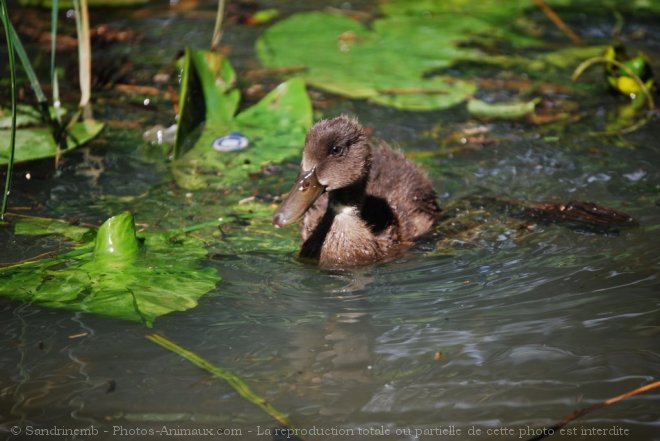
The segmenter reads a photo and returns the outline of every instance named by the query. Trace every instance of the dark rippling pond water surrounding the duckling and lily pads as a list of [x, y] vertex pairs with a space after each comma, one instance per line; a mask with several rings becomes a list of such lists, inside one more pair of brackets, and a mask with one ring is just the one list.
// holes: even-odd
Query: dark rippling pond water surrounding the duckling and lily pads
[[[283, 12], [320, 3], [287, 3]], [[144, 16], [108, 13], [114, 25], [143, 34], [115, 49], [139, 53], [134, 77], [149, 81], [183, 45], [208, 44], [213, 5], [202, 6], [209, 14], [156, 6]], [[373, 10], [373, 2], [352, 6]], [[610, 21], [592, 24], [594, 38], [608, 35]], [[657, 22], [628, 26], [625, 35], [644, 29], [642, 46], [657, 60]], [[225, 32], [239, 73], [258, 66], [252, 48], [259, 32], [238, 25]], [[440, 141], [424, 132], [442, 122], [448, 134], [469, 118], [462, 107], [402, 112], [320, 96], [331, 101], [320, 114], [358, 115], [375, 136], [408, 151], [433, 151]], [[589, 99], [584, 109], [594, 119], [621, 102]], [[145, 106], [141, 96], [105, 91], [95, 111], [109, 127], [67, 155], [60, 171], [50, 161], [16, 168], [14, 211], [98, 225], [129, 209], [138, 223], [167, 226], [181, 212], [222, 203], [218, 192], [178, 189], [158, 148], [142, 141], [150, 125], [171, 123], [166, 100]], [[236, 253], [218, 240], [207, 244], [204, 263], [222, 277], [217, 288], [196, 308], [160, 317], [152, 330], [0, 298], [0, 436], [36, 439], [29, 430], [93, 427], [90, 436], [49, 439], [146, 440], [162, 439], [148, 431], [166, 426], [273, 439], [272, 418], [146, 340], [153, 331], [239, 375], [314, 440], [530, 439], [576, 409], [657, 381], [660, 125], [656, 117], [625, 137], [588, 137], [580, 131], [589, 121], [581, 124], [557, 141], [534, 136], [525, 123], [491, 122], [505, 142], [422, 162], [443, 204], [475, 192], [595, 201], [630, 213], [639, 227], [609, 235], [557, 225], [526, 234], [503, 228], [443, 253], [432, 252], [438, 237], [431, 237], [393, 262], [342, 272], [300, 263], [294, 249]], [[295, 170], [285, 174], [275, 193], [286, 191]], [[0, 230], [2, 262], [52, 246]], [[658, 440], [659, 401], [657, 391], [629, 398], [555, 438]], [[13, 427], [22, 433], [13, 436]], [[598, 429], [607, 436], [594, 435]]]

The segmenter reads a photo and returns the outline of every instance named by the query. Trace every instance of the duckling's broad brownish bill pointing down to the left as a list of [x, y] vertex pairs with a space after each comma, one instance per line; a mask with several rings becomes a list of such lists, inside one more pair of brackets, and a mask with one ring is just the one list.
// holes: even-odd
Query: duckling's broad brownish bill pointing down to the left
[[315, 168], [310, 171], [301, 170], [289, 196], [275, 212], [273, 225], [284, 227], [296, 222], [324, 191], [325, 187], [319, 183]]

